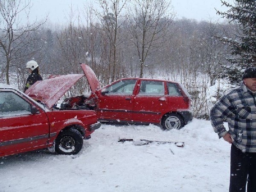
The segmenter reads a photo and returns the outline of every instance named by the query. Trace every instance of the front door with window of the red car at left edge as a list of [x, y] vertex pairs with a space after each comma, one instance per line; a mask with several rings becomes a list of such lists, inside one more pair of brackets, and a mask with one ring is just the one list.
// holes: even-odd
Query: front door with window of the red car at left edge
[[47, 116], [39, 106], [15, 90], [0, 91], [0, 156], [47, 147], [48, 138]]

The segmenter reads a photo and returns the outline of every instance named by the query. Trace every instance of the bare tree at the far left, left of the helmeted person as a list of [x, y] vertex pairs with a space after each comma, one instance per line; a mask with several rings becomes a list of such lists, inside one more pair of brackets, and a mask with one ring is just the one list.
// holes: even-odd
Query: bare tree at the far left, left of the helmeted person
[[[6, 74], [7, 84], [9, 84], [9, 70], [12, 67], [12, 60], [16, 57], [15, 52], [19, 52], [20, 49], [26, 49], [26, 46], [31, 41], [29, 39], [31, 32], [37, 30], [47, 20], [46, 18], [44, 22], [39, 24], [36, 21], [29, 23], [30, 9], [30, 1], [0, 0], [0, 52], [5, 55], [3, 71]], [[23, 12], [26, 13], [26, 24], [23, 24], [24, 20], [19, 17]], [[23, 57], [30, 53], [28, 50], [24, 53], [25, 55], [19, 55], [18, 57]]]

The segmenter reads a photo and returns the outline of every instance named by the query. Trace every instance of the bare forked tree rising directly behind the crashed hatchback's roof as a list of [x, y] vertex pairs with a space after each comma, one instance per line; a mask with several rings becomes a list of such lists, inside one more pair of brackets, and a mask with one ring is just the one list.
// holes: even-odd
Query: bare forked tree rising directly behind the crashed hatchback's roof
[[169, 0], [134, 0], [131, 6], [131, 41], [140, 59], [140, 77], [143, 77], [145, 59], [151, 49], [161, 46], [161, 37], [172, 23], [175, 14]]

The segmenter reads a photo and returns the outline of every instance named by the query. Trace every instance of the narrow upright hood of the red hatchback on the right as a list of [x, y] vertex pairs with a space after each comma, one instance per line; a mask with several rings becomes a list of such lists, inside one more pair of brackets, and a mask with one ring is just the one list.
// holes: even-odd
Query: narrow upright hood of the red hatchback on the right
[[96, 90], [99, 90], [101, 86], [93, 70], [86, 64], [81, 64], [81, 67], [84, 70], [84, 74], [87, 78], [87, 81], [90, 85], [92, 92], [94, 93]]

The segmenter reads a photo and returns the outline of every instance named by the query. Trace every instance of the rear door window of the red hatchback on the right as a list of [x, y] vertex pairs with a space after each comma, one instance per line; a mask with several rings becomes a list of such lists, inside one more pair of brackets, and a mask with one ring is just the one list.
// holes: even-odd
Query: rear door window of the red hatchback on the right
[[139, 95], [164, 95], [164, 84], [162, 81], [141, 81]]

